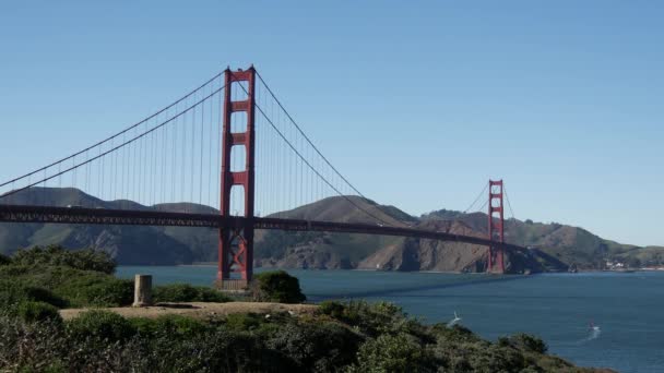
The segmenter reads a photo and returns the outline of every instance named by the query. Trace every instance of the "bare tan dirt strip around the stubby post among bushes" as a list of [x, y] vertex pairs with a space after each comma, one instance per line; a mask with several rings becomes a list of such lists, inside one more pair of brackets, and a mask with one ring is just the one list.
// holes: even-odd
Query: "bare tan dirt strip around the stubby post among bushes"
[[[232, 313], [260, 313], [292, 312], [294, 314], [311, 314], [318, 306], [315, 304], [284, 304], [284, 303], [257, 303], [257, 302], [228, 302], [228, 303], [159, 303], [145, 308], [111, 308], [99, 309], [115, 312], [124, 317], [157, 317], [167, 314], [187, 315], [198, 318], [210, 318], [224, 316]], [[92, 309], [60, 310], [64, 320], [76, 317], [80, 313]]]

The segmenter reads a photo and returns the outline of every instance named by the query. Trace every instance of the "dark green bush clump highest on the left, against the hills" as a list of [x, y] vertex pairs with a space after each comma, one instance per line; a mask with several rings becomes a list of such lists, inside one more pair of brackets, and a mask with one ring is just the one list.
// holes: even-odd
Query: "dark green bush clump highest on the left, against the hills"
[[46, 248], [34, 246], [22, 249], [12, 256], [14, 265], [56, 265], [68, 266], [83, 270], [95, 270], [105, 274], [112, 274], [116, 270], [116, 263], [110, 255], [104, 251], [85, 249], [70, 251], [60, 245], [48, 245]]

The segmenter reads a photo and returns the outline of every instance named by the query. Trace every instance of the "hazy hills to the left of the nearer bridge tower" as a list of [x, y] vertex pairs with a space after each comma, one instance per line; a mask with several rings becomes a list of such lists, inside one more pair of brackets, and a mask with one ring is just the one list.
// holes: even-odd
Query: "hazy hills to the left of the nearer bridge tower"
[[[102, 201], [69, 188], [35, 188], [12, 198], [12, 203], [25, 205], [210, 210], [209, 207], [192, 204], [147, 207], [131, 201]], [[208, 236], [209, 240], [205, 239]], [[0, 224], [0, 253], [10, 254], [20, 248], [57, 243], [74, 249], [98, 248], [110, 253], [120, 264], [171, 265], [209, 258], [205, 256], [210, 251], [206, 241], [216, 242], [214, 237], [212, 229], [200, 228]]]

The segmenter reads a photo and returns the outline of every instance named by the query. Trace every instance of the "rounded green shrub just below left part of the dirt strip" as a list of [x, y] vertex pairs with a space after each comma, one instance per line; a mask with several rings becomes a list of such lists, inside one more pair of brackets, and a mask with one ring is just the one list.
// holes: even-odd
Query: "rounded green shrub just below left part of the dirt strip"
[[99, 310], [87, 311], [70, 320], [67, 329], [74, 338], [93, 336], [102, 340], [126, 340], [137, 333], [129, 320], [117, 313]]

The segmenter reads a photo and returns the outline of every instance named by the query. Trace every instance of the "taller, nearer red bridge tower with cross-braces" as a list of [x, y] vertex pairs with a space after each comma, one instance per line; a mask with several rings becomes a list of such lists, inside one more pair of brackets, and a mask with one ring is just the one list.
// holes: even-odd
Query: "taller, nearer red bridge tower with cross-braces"
[[[230, 215], [230, 191], [233, 186], [242, 189], [245, 196], [244, 219], [235, 227], [220, 228], [217, 286], [226, 290], [246, 288], [253, 274], [253, 193], [254, 193], [254, 88], [256, 70], [232, 71], [226, 69], [224, 88], [224, 111], [222, 133], [222, 177], [221, 208], [222, 216]], [[241, 84], [247, 91], [244, 100], [232, 97], [233, 85]], [[238, 87], [236, 92], [242, 92]], [[247, 115], [245, 132], [232, 131], [232, 116], [235, 112]], [[234, 171], [230, 168], [230, 153], [234, 147], [245, 147], [245, 169]], [[232, 279], [232, 273], [239, 273], [240, 278]]]

